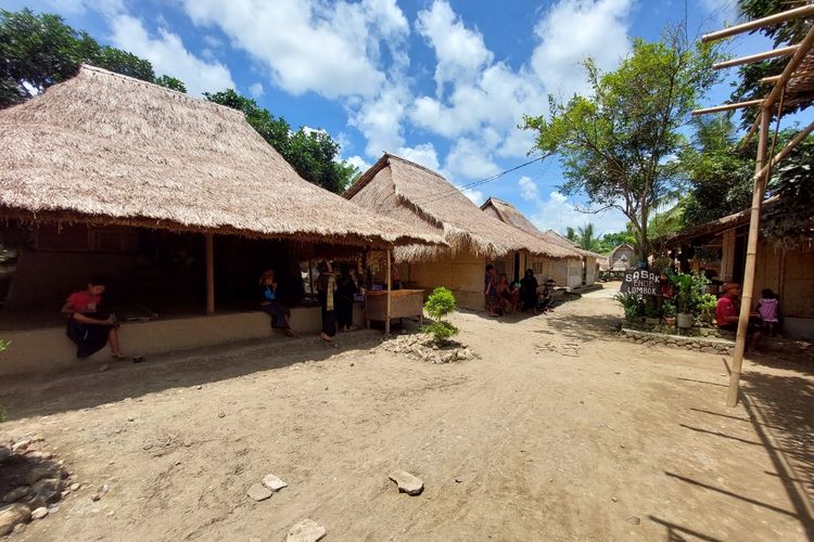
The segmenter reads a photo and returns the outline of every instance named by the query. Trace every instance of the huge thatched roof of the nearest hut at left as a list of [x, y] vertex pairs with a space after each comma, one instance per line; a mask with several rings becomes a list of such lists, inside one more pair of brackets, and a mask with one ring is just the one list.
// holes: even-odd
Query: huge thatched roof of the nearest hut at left
[[0, 111], [0, 216], [443, 243], [305, 181], [242, 113], [91, 66]]

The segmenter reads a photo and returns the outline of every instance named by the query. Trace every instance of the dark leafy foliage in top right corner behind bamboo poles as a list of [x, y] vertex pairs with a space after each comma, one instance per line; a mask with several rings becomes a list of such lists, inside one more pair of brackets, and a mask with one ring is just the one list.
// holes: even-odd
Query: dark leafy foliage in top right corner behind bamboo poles
[[[774, 15], [783, 11], [800, 8], [809, 3], [806, 0], [738, 0], [738, 11], [740, 16], [747, 21], [762, 18]], [[805, 33], [811, 27], [810, 18], [798, 17], [786, 23], [760, 28], [754, 30], [772, 39], [774, 47], [797, 43], [803, 39]], [[783, 73], [788, 59], [775, 59], [770, 61], [756, 62], [743, 65], [739, 68], [740, 81], [732, 93], [733, 102], [742, 102], [746, 100], [758, 100], [766, 95], [770, 87], [762, 85], [760, 80], [763, 77], [779, 75]], [[785, 108], [785, 107], [784, 107]], [[798, 111], [800, 105], [791, 109], [785, 108], [791, 113]], [[742, 126], [748, 127], [758, 114], [758, 108], [743, 109]]]

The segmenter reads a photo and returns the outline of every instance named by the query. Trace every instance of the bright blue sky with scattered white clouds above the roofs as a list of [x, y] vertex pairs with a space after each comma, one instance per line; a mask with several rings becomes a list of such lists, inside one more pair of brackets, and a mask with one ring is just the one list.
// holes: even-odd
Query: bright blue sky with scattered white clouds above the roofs
[[[7, 0], [59, 13], [103, 43], [149, 59], [156, 75], [192, 94], [228, 87], [293, 127], [327, 130], [365, 169], [384, 151], [465, 185], [529, 159], [523, 114], [547, 95], [585, 91], [580, 61], [612, 69], [633, 37], [657, 40], [686, 17], [690, 34], [734, 17], [735, 0]], [[767, 49], [759, 37], [728, 48]], [[734, 72], [734, 70], [733, 70]], [[707, 102], [725, 102], [727, 83]], [[585, 215], [557, 192], [556, 159], [536, 163], [468, 195], [514, 204], [538, 227], [592, 221], [619, 231], [618, 211]]]

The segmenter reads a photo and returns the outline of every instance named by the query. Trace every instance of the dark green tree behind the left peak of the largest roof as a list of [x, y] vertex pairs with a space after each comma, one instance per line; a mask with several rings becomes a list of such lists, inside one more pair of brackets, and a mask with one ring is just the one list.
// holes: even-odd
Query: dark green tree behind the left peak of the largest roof
[[82, 63], [150, 82], [155, 78], [149, 61], [101, 46], [58, 15], [0, 10], [0, 107], [73, 77]]

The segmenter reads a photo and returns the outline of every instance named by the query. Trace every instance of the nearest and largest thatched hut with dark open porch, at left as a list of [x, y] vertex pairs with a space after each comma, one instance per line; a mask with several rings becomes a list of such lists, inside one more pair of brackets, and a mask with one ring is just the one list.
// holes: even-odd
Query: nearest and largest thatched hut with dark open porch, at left
[[3, 312], [58, 312], [94, 274], [213, 312], [266, 267], [295, 291], [311, 256], [443, 244], [305, 181], [242, 113], [91, 66], [0, 111], [0, 217]]

